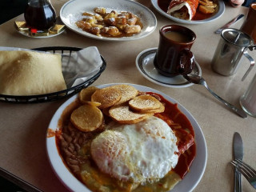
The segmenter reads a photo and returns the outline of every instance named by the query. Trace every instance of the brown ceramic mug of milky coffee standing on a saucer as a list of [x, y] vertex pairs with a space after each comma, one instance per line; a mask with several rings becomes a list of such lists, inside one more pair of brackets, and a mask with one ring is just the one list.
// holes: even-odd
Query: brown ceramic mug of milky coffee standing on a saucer
[[154, 67], [167, 77], [190, 74], [194, 68], [194, 54], [190, 51], [196, 35], [185, 26], [168, 25], [159, 30], [158, 51]]

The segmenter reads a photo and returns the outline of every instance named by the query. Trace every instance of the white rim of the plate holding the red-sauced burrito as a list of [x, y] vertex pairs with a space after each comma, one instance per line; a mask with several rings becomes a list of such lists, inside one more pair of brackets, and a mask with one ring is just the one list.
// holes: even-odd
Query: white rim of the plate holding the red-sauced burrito
[[180, 22], [180, 23], [184, 23], [184, 24], [200, 24], [200, 23], [212, 22], [215, 19], [221, 17], [222, 14], [224, 14], [224, 11], [225, 11], [225, 4], [224, 4], [224, 2], [222, 0], [219, 0], [218, 1], [218, 12], [216, 14], [214, 14], [212, 17], [206, 18], [206, 19], [202, 19], [202, 20], [196, 20], [196, 21], [192, 20], [192, 21], [190, 21], [190, 20], [185, 20], [185, 19], [182, 19], [182, 18], [175, 18], [175, 17], [171, 16], [170, 14], [167, 14], [166, 12], [164, 12], [158, 6], [158, 0], [151, 0], [151, 3], [153, 4], [154, 8], [156, 10], [158, 10], [158, 12], [160, 14], [162, 14], [163, 16], [165, 16], [166, 18], [170, 18], [174, 22]]

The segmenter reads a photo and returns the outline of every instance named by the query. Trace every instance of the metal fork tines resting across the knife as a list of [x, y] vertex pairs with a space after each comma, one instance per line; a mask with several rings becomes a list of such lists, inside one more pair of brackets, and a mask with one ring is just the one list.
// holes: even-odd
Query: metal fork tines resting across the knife
[[256, 190], [256, 170], [239, 159], [235, 159], [230, 163], [235, 166], [239, 172], [241, 172], [247, 181], [250, 182], [250, 185]]

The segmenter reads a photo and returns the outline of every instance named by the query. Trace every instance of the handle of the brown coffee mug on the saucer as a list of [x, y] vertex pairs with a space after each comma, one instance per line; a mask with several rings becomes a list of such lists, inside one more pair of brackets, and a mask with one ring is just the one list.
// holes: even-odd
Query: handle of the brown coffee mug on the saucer
[[190, 74], [194, 69], [194, 54], [190, 50], [182, 50], [178, 54], [178, 73], [179, 74]]

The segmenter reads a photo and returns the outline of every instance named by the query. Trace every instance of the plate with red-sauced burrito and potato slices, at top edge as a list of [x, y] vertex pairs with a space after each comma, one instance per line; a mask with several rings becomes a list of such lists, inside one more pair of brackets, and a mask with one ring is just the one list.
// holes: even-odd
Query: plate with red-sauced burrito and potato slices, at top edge
[[212, 22], [225, 11], [222, 0], [151, 0], [151, 3], [166, 18], [184, 24]]

